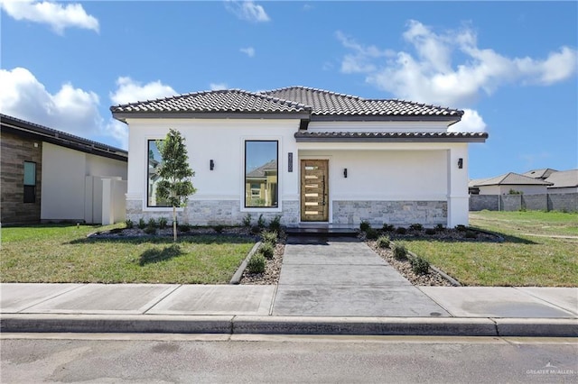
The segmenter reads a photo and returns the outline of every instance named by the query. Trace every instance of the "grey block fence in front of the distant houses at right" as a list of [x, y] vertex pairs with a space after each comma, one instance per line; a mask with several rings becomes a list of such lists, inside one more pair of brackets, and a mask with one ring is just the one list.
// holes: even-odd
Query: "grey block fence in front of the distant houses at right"
[[578, 193], [541, 195], [470, 195], [470, 210], [578, 212]]

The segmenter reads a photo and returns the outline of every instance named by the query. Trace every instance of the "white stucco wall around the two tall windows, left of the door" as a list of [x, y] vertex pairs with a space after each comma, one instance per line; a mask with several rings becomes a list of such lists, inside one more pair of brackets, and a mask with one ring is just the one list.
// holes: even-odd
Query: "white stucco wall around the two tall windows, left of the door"
[[[163, 139], [169, 129], [182, 133], [185, 139], [192, 178], [197, 193], [191, 200], [238, 200], [244, 201], [245, 141], [278, 141], [278, 167], [280, 201], [298, 199], [297, 169], [287, 172], [287, 153], [297, 149], [294, 133], [299, 127], [298, 119], [129, 119], [130, 142], [128, 163], [127, 199], [146, 202], [147, 142]], [[210, 170], [210, 160], [215, 167]]]

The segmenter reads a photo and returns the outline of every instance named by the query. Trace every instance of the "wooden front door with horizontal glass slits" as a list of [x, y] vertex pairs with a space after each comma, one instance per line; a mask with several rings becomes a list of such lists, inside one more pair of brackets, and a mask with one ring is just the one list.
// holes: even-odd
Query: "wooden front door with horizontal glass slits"
[[329, 220], [329, 160], [301, 160], [301, 221]]

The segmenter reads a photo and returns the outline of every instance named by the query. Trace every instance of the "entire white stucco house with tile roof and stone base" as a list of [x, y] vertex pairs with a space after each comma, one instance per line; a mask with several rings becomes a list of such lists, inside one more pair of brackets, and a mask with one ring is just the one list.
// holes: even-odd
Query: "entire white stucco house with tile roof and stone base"
[[186, 140], [197, 193], [188, 224], [468, 224], [468, 143], [461, 110], [310, 87], [197, 92], [111, 107], [128, 125], [127, 218], [170, 217], [154, 196], [156, 149]]

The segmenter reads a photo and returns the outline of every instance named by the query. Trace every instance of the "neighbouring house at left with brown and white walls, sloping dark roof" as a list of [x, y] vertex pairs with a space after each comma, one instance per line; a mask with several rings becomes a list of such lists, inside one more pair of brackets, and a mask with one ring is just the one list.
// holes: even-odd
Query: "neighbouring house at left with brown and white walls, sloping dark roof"
[[124, 220], [126, 151], [5, 114], [0, 125], [2, 224]]

